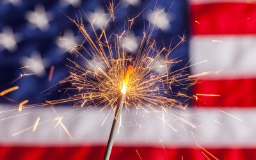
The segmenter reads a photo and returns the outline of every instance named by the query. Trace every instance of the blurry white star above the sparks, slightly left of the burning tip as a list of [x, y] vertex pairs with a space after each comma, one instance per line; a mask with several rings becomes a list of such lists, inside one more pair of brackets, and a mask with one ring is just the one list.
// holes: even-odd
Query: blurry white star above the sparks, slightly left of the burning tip
[[106, 28], [109, 19], [109, 14], [105, 13], [102, 8], [97, 8], [94, 13], [88, 13], [88, 20], [95, 29]]

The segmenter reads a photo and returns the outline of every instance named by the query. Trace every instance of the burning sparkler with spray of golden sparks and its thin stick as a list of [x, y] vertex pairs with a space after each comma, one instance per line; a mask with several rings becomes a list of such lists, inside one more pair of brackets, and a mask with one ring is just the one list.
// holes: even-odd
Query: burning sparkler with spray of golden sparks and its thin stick
[[[109, 8], [111, 10], [113, 7]], [[115, 16], [111, 15], [109, 19], [114, 18]], [[71, 83], [72, 86], [67, 90], [75, 93], [67, 99], [49, 100], [44, 104], [24, 106], [28, 102], [24, 101], [20, 103], [19, 111], [23, 108], [70, 101], [74, 101], [76, 106], [81, 108], [84, 106], [88, 108], [103, 106], [102, 111], [108, 108], [115, 110], [104, 157], [104, 159], [109, 159], [118, 126], [116, 123], [121, 121], [120, 115], [123, 107], [127, 110], [131, 107], [138, 110], [142, 109], [145, 112], [148, 110], [157, 112], [154, 106], [159, 106], [161, 111], [173, 107], [186, 109], [186, 106], [177, 97], [185, 99], [192, 97], [183, 92], [173, 92], [173, 85], [184, 86], [186, 92], [186, 86], [194, 83], [192, 77], [189, 77], [185, 71], [189, 66], [170, 72], [171, 66], [179, 63], [179, 61], [169, 59], [173, 49], [184, 42], [184, 35], [180, 36], [180, 42], [174, 47], [168, 46], [158, 49], [156, 41], [152, 38], [153, 26], [150, 31], [144, 32], [138, 52], [130, 55], [125, 45], [122, 44], [122, 38], [129, 35], [129, 29], [132, 27], [134, 19], [132, 19], [132, 23], [128, 23], [130, 25], [127, 30], [124, 30], [120, 35], [113, 33], [108, 36], [104, 29], [97, 34], [92, 24], [93, 37], [88, 33], [82, 19], [70, 20], [83, 34], [84, 43], [70, 49], [71, 53], [76, 56], [76, 61], [68, 59], [70, 65], [67, 67], [72, 71], [70, 76], [60, 81], [60, 84]], [[110, 37], [113, 35], [115, 38], [111, 39]], [[36, 125], [38, 122], [39, 119], [36, 121]], [[191, 125], [190, 122], [186, 123]]]

